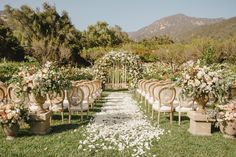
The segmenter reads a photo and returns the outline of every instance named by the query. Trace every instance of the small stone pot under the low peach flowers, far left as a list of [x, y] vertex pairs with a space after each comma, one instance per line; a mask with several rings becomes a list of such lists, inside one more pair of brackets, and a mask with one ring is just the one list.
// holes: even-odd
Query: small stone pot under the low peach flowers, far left
[[2, 129], [4, 134], [6, 135], [6, 139], [13, 140], [17, 137], [20, 126], [18, 123], [14, 123], [12, 125], [2, 124]]

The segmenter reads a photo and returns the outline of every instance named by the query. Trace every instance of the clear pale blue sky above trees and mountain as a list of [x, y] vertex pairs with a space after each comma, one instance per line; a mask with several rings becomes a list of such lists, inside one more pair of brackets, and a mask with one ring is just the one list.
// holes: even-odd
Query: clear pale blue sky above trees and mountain
[[124, 31], [135, 31], [177, 13], [206, 18], [236, 16], [236, 0], [0, 0], [0, 10], [6, 4], [36, 8], [45, 1], [55, 5], [59, 12], [66, 10], [79, 30], [106, 21]]

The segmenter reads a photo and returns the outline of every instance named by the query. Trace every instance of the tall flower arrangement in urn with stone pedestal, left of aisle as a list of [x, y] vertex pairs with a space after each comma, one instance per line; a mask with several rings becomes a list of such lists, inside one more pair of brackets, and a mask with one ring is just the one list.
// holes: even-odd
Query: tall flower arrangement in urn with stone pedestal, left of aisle
[[30, 131], [34, 134], [47, 134], [50, 131], [50, 117], [52, 116], [51, 111], [43, 108], [47, 95], [68, 89], [71, 87], [71, 82], [65, 79], [58, 66], [52, 62], [47, 62], [39, 68], [24, 67], [13, 77], [13, 80], [22, 87], [21, 92], [28, 93]]

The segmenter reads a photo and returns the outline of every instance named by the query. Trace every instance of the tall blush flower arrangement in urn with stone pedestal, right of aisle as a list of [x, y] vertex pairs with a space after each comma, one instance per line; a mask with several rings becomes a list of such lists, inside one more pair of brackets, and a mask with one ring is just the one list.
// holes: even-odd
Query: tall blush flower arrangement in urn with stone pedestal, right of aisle
[[196, 111], [188, 112], [188, 131], [193, 135], [211, 135], [211, 124], [215, 120], [209, 119], [206, 114], [209, 98], [224, 102], [228, 95], [229, 84], [222, 70], [201, 66], [200, 61], [191, 63], [184, 69], [179, 86], [182, 88], [182, 96], [193, 98], [198, 105]]

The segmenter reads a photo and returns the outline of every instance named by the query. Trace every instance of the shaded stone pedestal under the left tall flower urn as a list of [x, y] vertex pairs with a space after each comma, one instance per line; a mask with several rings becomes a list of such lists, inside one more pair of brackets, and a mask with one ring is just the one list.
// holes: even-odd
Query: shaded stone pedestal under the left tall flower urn
[[48, 134], [51, 130], [50, 128], [50, 117], [52, 115], [51, 111], [45, 113], [31, 113], [30, 114], [30, 132], [37, 135]]

